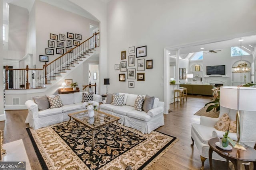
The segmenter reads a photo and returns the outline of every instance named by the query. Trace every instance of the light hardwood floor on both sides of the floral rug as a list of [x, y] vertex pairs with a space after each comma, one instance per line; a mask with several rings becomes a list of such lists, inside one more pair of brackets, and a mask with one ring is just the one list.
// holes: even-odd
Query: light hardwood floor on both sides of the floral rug
[[[198, 170], [201, 167], [200, 154], [198, 149], [190, 147], [191, 123], [200, 123], [200, 116], [194, 115], [198, 110], [204, 107], [204, 104], [209, 102], [209, 96], [190, 96], [185, 104], [170, 104], [169, 114], [164, 115], [165, 125], [158, 128], [157, 131], [177, 137], [179, 141], [169, 149], [150, 170]], [[0, 129], [4, 129], [4, 143], [23, 139], [28, 158], [32, 170], [42, 170], [33, 146], [30, 142], [24, 123], [28, 111], [16, 110], [6, 111], [6, 121], [0, 122]], [[213, 161], [214, 169], [225, 170], [225, 162]], [[233, 169], [230, 163], [230, 168]], [[242, 167], [244, 169], [244, 167]], [[208, 159], [204, 163], [204, 169], [209, 170]], [[250, 167], [252, 169], [252, 167]]]

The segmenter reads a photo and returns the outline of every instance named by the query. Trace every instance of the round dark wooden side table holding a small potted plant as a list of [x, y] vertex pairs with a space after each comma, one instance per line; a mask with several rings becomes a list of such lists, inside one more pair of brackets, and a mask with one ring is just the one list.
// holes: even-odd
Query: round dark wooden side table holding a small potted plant
[[[229, 160], [234, 164], [235, 170], [240, 170], [240, 165], [242, 163], [248, 163], [253, 162], [253, 169], [256, 170], [256, 150], [252, 147], [249, 147], [247, 145], [244, 145], [245, 150], [240, 149], [231, 149], [231, 150], [223, 150], [216, 146], [216, 142], [218, 142], [218, 138], [212, 138], [208, 141], [208, 144], [210, 146], [209, 149], [209, 162], [210, 162], [210, 168], [212, 170], [212, 152], [216, 152], [218, 155], [220, 155], [223, 158], [227, 159], [227, 166], [229, 163]], [[248, 165], [246, 165], [246, 169], [249, 169]]]

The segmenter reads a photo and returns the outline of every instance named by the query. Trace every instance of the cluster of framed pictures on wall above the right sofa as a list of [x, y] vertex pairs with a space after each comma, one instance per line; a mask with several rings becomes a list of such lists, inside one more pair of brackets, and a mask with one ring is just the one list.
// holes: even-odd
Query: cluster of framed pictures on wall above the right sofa
[[[126, 49], [127, 50], [127, 49]], [[114, 64], [114, 70], [118, 72], [119, 81], [128, 80], [128, 87], [134, 88], [135, 81], [145, 81], [145, 72], [153, 68], [153, 60], [147, 57], [147, 46], [128, 47], [128, 50], [121, 51], [120, 64]], [[128, 57], [126, 57], [128, 55]], [[183, 71], [183, 70], [182, 70]], [[126, 74], [121, 72], [127, 72]], [[183, 72], [182, 72], [183, 73]], [[126, 76], [127, 75], [127, 76]], [[182, 75], [183, 76], [183, 75]], [[129, 81], [132, 80], [133, 81]]]

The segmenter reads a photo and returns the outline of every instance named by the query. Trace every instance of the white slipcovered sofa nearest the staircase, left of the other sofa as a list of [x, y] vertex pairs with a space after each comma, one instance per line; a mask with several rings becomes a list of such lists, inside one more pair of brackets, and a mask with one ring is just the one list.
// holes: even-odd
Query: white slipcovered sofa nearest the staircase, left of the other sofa
[[[58, 94], [60, 100], [63, 103], [62, 107], [45, 109], [38, 111], [38, 105], [33, 100], [25, 102], [28, 108], [28, 116], [25, 123], [29, 123], [30, 127], [39, 129], [40, 127], [46, 127], [69, 119], [68, 114], [76, 111], [84, 110], [82, 103], [82, 93], [76, 92], [71, 94]], [[55, 95], [51, 95], [54, 98]], [[100, 102], [101, 96], [98, 94], [93, 95], [93, 101]]]

